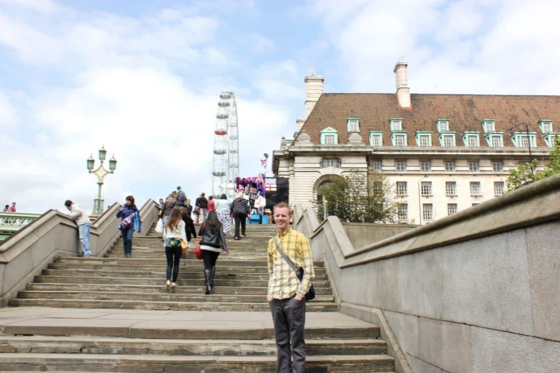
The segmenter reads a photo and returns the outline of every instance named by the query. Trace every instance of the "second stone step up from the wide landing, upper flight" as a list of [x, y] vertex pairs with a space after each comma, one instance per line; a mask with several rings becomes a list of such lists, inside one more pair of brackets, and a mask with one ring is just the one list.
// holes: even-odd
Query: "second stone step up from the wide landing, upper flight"
[[[120, 291], [77, 291], [77, 290], [55, 290], [55, 291], [33, 291], [22, 290], [18, 292], [20, 299], [97, 299], [97, 300], [141, 300], [141, 301], [175, 301], [175, 302], [210, 302], [210, 303], [263, 303], [266, 302], [264, 292], [260, 294], [184, 294], [175, 291], [164, 291], [165, 287], [161, 287], [161, 292], [120, 292]], [[317, 295], [313, 302], [332, 302], [333, 295]]]

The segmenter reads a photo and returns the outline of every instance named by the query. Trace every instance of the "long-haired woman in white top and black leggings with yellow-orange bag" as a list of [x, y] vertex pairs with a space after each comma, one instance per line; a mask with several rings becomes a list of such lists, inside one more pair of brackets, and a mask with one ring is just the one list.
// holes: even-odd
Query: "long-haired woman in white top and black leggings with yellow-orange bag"
[[[183, 249], [181, 245], [185, 246], [186, 253], [186, 235], [185, 235], [185, 222], [183, 221], [183, 214], [181, 207], [175, 206], [171, 210], [171, 215], [164, 225], [165, 237], [165, 257], [167, 258], [167, 281], [165, 287], [167, 291], [171, 287], [177, 286], [177, 276], [179, 275], [179, 261]], [[181, 243], [182, 241], [182, 243]], [[173, 268], [173, 278], [171, 278], [171, 267]]]

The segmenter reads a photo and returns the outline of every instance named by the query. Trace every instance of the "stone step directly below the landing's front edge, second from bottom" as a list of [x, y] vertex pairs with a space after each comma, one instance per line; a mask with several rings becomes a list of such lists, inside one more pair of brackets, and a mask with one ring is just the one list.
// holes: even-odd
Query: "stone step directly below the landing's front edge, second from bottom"
[[[307, 356], [380, 355], [387, 353], [381, 339], [313, 339], [305, 341]], [[156, 339], [126, 337], [0, 336], [0, 353], [103, 353], [129, 355], [276, 356], [270, 339]], [[1, 357], [0, 357], [1, 359]]]

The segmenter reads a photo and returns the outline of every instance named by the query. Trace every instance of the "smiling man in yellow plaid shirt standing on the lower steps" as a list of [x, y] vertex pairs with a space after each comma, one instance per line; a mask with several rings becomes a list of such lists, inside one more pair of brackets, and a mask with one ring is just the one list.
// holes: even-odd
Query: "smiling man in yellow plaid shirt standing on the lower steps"
[[[276, 337], [279, 373], [305, 372], [305, 294], [315, 278], [311, 248], [305, 235], [290, 228], [292, 213], [290, 206], [281, 202], [274, 206], [274, 222], [278, 227], [276, 240], [284, 254], [303, 268], [300, 281], [296, 272], [282, 258], [274, 239], [268, 242], [268, 294], [267, 300], [272, 312], [274, 336]], [[293, 365], [292, 365], [293, 357]]]

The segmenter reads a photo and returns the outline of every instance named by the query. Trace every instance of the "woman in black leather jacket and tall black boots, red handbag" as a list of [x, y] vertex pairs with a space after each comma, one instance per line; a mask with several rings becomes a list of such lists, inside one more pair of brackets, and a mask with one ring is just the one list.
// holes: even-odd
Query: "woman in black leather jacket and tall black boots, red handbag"
[[210, 294], [212, 286], [214, 286], [214, 277], [216, 277], [216, 261], [220, 253], [227, 255], [226, 236], [223, 234], [223, 227], [216, 211], [208, 213], [206, 221], [200, 226], [198, 232], [200, 236], [200, 252], [204, 261], [204, 281], [206, 282], [206, 291], [204, 294]]

